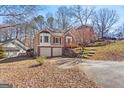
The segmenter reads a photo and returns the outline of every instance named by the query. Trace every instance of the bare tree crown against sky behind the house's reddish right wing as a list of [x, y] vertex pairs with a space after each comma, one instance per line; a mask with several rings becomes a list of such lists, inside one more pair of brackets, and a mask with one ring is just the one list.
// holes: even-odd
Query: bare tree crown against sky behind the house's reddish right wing
[[70, 7], [70, 16], [75, 20], [75, 23], [86, 25], [91, 19], [95, 8], [83, 7], [80, 5]]

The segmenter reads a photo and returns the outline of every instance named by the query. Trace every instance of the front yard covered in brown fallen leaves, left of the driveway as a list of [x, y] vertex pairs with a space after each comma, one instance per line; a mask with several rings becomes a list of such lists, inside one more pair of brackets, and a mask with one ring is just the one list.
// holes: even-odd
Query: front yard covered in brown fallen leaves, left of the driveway
[[[13, 60], [14, 61], [14, 60]], [[7, 81], [13, 87], [97, 87], [77, 66], [58, 68], [58, 62], [47, 59], [42, 66], [35, 67], [35, 59], [0, 63], [0, 81]], [[34, 67], [33, 67], [34, 66]]]

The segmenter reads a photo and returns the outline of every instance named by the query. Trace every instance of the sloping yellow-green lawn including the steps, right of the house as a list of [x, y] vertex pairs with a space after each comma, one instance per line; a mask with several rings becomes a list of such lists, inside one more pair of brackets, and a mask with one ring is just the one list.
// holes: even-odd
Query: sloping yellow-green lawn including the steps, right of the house
[[[124, 40], [113, 41], [108, 44], [102, 42], [96, 43], [97, 46], [85, 47], [82, 57], [91, 60], [124, 60]], [[100, 45], [99, 45], [100, 44]], [[80, 48], [74, 49], [76, 53], [80, 53]]]

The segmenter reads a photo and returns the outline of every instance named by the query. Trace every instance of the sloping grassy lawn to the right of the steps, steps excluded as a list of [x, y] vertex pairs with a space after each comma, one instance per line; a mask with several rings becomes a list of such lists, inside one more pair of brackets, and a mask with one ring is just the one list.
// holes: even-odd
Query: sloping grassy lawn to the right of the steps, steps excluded
[[89, 59], [94, 60], [112, 60], [121, 61], [124, 60], [124, 41], [116, 41], [105, 46], [88, 47], [86, 49], [94, 49], [95, 53]]

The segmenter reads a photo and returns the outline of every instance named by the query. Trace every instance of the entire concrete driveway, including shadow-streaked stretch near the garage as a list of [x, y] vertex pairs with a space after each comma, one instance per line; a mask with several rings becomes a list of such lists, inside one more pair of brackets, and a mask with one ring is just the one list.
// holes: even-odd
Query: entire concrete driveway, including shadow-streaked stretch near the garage
[[124, 88], [124, 62], [93, 61], [77, 58], [55, 58], [58, 67], [70, 68], [79, 66], [89, 79], [105, 88]]

